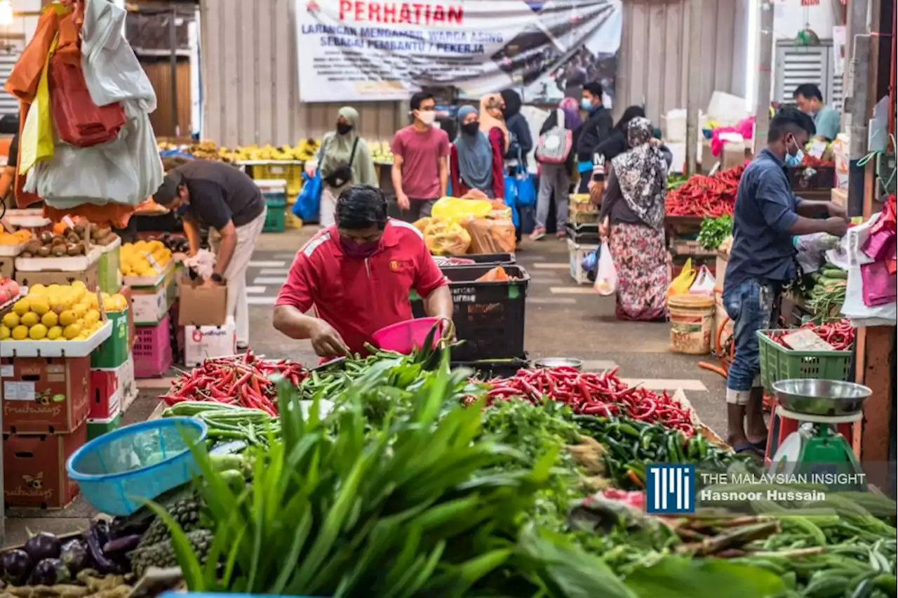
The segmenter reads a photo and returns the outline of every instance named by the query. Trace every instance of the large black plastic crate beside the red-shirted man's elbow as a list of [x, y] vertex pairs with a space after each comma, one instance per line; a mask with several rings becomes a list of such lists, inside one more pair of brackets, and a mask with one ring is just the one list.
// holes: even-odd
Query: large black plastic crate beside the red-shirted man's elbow
[[[524, 355], [524, 311], [530, 275], [521, 266], [505, 266], [503, 282], [477, 282], [493, 265], [446, 268], [453, 296], [455, 336], [464, 343], [453, 348], [455, 362], [503, 359]], [[412, 295], [411, 311], [423, 318], [424, 303]]]

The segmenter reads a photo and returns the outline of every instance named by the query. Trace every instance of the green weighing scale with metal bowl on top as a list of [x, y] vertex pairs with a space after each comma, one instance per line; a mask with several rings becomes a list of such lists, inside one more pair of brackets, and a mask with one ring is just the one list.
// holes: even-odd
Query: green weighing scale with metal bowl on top
[[768, 473], [833, 491], [867, 490], [851, 444], [836, 427], [863, 418], [872, 391], [861, 384], [814, 379], [782, 380], [773, 391], [780, 422], [798, 423], [779, 445]]

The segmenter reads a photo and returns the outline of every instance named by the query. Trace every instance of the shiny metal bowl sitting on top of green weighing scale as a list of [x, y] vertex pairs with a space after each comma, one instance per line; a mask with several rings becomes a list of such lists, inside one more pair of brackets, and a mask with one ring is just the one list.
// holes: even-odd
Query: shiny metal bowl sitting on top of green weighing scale
[[873, 393], [863, 384], [811, 378], [780, 380], [773, 384], [773, 392], [783, 409], [824, 417], [858, 413]]

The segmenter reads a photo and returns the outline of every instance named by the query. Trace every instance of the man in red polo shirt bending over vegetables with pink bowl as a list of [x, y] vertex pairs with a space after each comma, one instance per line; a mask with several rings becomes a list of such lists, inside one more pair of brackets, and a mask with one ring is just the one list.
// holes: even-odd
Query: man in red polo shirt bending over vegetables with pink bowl
[[452, 294], [423, 235], [387, 217], [383, 191], [344, 189], [336, 221], [296, 253], [275, 302], [277, 330], [311, 339], [321, 357], [364, 353], [375, 331], [412, 318], [411, 289], [428, 316], [452, 318]]

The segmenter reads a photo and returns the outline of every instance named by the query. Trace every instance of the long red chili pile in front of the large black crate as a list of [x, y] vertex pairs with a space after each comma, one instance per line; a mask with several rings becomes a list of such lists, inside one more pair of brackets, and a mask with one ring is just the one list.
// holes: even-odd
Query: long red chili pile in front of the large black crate
[[665, 427], [695, 433], [688, 410], [667, 392], [658, 394], [640, 387], [629, 387], [617, 377], [617, 368], [603, 374], [587, 374], [573, 367], [518, 370], [511, 378], [495, 378], [487, 393], [489, 402], [522, 397], [533, 402], [549, 397], [567, 403], [583, 415], [627, 416]]

